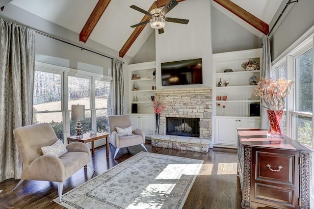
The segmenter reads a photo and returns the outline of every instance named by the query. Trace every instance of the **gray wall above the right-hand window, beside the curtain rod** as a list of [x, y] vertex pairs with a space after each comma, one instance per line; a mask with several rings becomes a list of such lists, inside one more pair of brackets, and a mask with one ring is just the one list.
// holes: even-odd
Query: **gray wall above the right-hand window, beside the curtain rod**
[[[284, 0], [271, 24], [275, 22], [288, 0]], [[289, 8], [290, 7], [290, 8]], [[280, 22], [270, 34], [270, 52], [274, 60], [293, 42], [314, 25], [314, 0], [299, 0], [291, 3]], [[285, 17], [284, 17], [285, 16]]]

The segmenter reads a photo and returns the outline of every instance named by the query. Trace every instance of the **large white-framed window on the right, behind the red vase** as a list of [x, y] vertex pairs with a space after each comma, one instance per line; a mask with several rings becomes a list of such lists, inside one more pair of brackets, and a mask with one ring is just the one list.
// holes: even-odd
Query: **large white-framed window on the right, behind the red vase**
[[[312, 31], [312, 32], [309, 32]], [[281, 124], [285, 134], [314, 151], [313, 138], [313, 48], [314, 27], [274, 60], [273, 75], [294, 79], [287, 97], [286, 117]], [[312, 35], [310, 35], [312, 34]], [[312, 155], [311, 206], [314, 205], [314, 155]], [[312, 208], [312, 207], [311, 207]]]

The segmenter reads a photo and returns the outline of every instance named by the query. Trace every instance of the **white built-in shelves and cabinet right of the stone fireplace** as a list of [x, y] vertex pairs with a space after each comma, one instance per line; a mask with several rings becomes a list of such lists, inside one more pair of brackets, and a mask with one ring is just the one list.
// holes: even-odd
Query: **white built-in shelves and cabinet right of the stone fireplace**
[[[236, 128], [260, 128], [260, 116], [250, 116], [250, 104], [260, 104], [253, 93], [251, 77], [261, 78], [261, 70], [245, 70], [242, 63], [262, 60], [262, 49], [213, 54], [213, 133], [214, 147], [237, 147]], [[224, 72], [231, 69], [233, 72]], [[222, 86], [218, 86], [221, 79]], [[225, 82], [229, 84], [225, 86]], [[221, 100], [217, 99], [221, 96]], [[227, 96], [227, 100], [223, 100]], [[225, 106], [225, 108], [223, 108]]]

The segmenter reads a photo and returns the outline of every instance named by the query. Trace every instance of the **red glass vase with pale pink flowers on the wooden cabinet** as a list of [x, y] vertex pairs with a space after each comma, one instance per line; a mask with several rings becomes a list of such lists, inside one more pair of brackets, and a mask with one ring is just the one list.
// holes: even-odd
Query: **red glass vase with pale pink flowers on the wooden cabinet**
[[261, 97], [262, 106], [267, 109], [269, 129], [267, 136], [283, 137], [280, 123], [285, 109], [285, 98], [291, 91], [293, 80], [280, 78], [261, 78], [257, 88], [253, 89], [256, 96]]

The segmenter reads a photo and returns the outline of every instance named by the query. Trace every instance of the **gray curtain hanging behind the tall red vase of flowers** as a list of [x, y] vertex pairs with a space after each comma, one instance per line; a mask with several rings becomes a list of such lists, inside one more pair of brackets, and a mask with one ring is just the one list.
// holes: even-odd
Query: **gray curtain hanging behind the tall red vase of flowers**
[[[271, 56], [270, 56], [270, 44], [269, 44], [269, 37], [263, 41], [263, 49], [262, 49], [262, 77], [263, 78], [270, 78], [271, 77]], [[261, 108], [261, 129], [268, 129], [269, 128], [269, 120], [267, 116], [267, 109], [262, 106]]]

